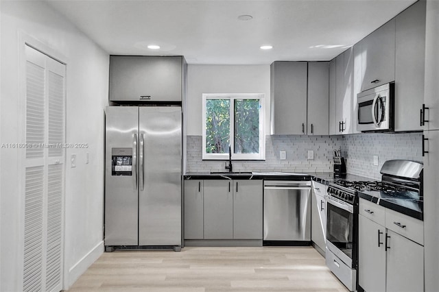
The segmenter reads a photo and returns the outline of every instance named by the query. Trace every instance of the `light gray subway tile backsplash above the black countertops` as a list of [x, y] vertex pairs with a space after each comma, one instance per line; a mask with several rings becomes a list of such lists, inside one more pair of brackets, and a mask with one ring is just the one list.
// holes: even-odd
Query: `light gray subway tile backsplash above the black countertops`
[[[265, 136], [265, 161], [234, 161], [235, 171], [333, 171], [333, 149], [342, 149], [349, 173], [381, 179], [386, 160], [422, 161], [422, 134], [353, 134], [346, 136]], [[202, 136], [187, 136], [187, 172], [224, 171], [224, 160], [202, 160]], [[285, 160], [279, 151], [285, 150]], [[314, 159], [307, 159], [307, 151]], [[373, 165], [373, 156], [379, 165]]]

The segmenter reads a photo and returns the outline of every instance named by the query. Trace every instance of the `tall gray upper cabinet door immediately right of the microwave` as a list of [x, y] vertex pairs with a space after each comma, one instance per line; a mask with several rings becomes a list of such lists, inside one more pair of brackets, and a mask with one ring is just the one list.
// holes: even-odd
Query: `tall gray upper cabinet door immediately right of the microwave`
[[424, 103], [425, 1], [396, 16], [395, 131], [422, 130]]

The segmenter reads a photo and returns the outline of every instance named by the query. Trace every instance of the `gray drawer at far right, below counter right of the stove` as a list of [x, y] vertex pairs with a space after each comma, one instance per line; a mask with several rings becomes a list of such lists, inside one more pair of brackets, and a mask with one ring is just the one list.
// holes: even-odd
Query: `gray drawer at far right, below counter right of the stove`
[[394, 210], [385, 209], [385, 228], [424, 245], [424, 222]]

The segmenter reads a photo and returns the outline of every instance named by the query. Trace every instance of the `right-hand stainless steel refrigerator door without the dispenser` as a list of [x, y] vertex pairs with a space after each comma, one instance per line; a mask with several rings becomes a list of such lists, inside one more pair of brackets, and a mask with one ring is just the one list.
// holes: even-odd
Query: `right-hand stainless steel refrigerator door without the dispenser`
[[181, 245], [181, 108], [139, 108], [139, 245]]

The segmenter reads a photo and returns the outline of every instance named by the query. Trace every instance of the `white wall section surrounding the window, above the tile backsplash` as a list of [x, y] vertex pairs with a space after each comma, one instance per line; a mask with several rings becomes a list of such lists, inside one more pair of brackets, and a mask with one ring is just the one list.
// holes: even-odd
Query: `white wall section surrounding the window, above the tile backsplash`
[[270, 134], [270, 65], [189, 65], [187, 135], [202, 135], [203, 93], [265, 93], [265, 134]]

